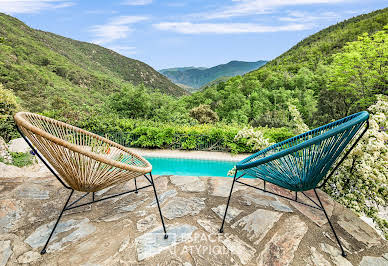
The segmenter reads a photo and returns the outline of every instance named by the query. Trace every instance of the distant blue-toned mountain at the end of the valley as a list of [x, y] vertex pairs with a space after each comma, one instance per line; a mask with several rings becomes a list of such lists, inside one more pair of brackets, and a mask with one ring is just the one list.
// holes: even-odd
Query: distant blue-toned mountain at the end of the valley
[[176, 84], [183, 84], [198, 90], [213, 80], [220, 77], [233, 77], [243, 75], [249, 71], [263, 66], [267, 61], [243, 62], [230, 61], [227, 64], [214, 66], [211, 68], [182, 67], [159, 70], [160, 73], [168, 77]]

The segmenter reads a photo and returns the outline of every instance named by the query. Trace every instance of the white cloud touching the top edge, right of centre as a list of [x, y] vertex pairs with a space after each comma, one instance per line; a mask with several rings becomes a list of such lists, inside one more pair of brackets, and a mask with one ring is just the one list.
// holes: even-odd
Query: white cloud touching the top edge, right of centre
[[193, 14], [203, 19], [220, 19], [273, 12], [274, 9], [285, 6], [334, 4], [351, 0], [232, 0], [233, 5], [221, 8], [214, 12]]

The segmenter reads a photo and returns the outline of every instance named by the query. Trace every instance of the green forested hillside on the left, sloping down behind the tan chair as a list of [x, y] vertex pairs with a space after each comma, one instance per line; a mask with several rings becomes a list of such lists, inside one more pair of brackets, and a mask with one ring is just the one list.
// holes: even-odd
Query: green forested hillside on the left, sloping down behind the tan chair
[[101, 46], [34, 30], [0, 13], [0, 83], [31, 111], [92, 108], [125, 86], [187, 94], [152, 67]]

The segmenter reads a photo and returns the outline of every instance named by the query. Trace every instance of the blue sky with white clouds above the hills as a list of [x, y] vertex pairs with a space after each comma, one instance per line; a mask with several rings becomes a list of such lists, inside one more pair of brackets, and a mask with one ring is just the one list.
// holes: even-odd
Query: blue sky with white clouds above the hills
[[93, 42], [155, 69], [270, 60], [385, 0], [0, 0], [27, 25]]

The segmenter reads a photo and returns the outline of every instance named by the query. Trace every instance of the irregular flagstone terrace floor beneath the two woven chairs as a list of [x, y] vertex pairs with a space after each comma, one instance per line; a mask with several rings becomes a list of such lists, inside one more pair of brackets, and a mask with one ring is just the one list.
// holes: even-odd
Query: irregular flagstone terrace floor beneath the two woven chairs
[[[219, 234], [231, 181], [156, 177], [167, 240], [150, 189], [65, 212], [41, 256], [69, 192], [38, 165], [20, 169], [0, 163], [0, 266], [388, 265], [387, 241], [323, 192], [346, 259], [323, 213], [241, 185], [233, 193], [225, 233]], [[142, 184], [146, 180], [139, 178]], [[130, 181], [97, 198], [133, 188]]]

